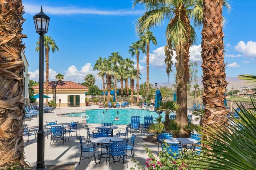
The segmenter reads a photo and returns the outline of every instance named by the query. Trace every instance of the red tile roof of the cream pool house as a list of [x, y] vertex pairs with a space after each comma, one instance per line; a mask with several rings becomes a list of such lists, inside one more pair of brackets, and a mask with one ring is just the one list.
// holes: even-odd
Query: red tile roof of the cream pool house
[[[39, 85], [34, 86], [32, 88], [39, 89]], [[44, 83], [44, 88], [46, 88], [46, 83]], [[54, 82], [49, 82], [49, 89], [51, 88], [54, 88]], [[75, 82], [63, 81], [57, 82], [56, 89], [88, 89], [88, 87]]]

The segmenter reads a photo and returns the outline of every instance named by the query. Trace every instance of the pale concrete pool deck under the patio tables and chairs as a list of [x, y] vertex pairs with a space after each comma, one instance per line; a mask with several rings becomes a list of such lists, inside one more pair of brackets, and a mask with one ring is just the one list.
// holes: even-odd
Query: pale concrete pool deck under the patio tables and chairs
[[[133, 108], [138, 108], [134, 107]], [[91, 106], [87, 107], [87, 109], [96, 109], [97, 106]], [[131, 107], [129, 107], [131, 108]], [[82, 107], [68, 107], [64, 108], [70, 113], [75, 112], [81, 112]], [[72, 120], [74, 121], [80, 121], [80, 117], [64, 117], [61, 116], [61, 114], [67, 113], [63, 109], [56, 109], [56, 115], [55, 111], [52, 113], [46, 113], [44, 114], [44, 123], [46, 121], [55, 121], [57, 120], [58, 123], [65, 123], [69, 124]], [[38, 129], [38, 118], [35, 118], [31, 121], [25, 121], [26, 125], [28, 125], [28, 128], [30, 131], [34, 131], [35, 129]], [[46, 125], [45, 125], [46, 126]], [[45, 127], [44, 126], [44, 127]], [[99, 126], [99, 124], [88, 124], [89, 128], [94, 129], [95, 127]], [[117, 125], [119, 128], [125, 128], [126, 125]], [[47, 128], [44, 128], [45, 133], [47, 136]], [[86, 139], [86, 129], [85, 126], [82, 124], [78, 125], [78, 133], [82, 136], [82, 139]], [[115, 134], [115, 131], [114, 131]], [[50, 138], [47, 139], [45, 137], [45, 164], [47, 165], [63, 165], [63, 164], [75, 164], [75, 170], [108, 170], [109, 165], [105, 164], [106, 158], [102, 158], [102, 161], [100, 164], [95, 164], [94, 161], [91, 161], [90, 159], [82, 160], [80, 165], [79, 158], [80, 158], [80, 143], [76, 139], [76, 137], [73, 137], [73, 139], [70, 139], [68, 141], [68, 133], [66, 133], [66, 143], [62, 143], [62, 141], [58, 141], [57, 143], [54, 143], [50, 145]], [[50, 135], [48, 136], [50, 137]], [[129, 134], [129, 138], [131, 135]], [[142, 165], [145, 165], [145, 161], [147, 158], [147, 154], [143, 148], [143, 145], [146, 144], [145, 141], [143, 141], [143, 137], [146, 137], [144, 134], [138, 134], [138, 137], [135, 139], [134, 143], [134, 153], [136, 154], [135, 158], [136, 160], [140, 161]], [[26, 138], [25, 138], [26, 140]], [[26, 143], [25, 143], [26, 144]], [[148, 147], [150, 147], [154, 153], [157, 151], [157, 145], [147, 143]], [[89, 145], [90, 146], [90, 145]], [[36, 148], [37, 143], [34, 139], [34, 137], [30, 137], [30, 143], [25, 147], [25, 160], [28, 161], [31, 166], [36, 165]], [[83, 153], [83, 155], [86, 156], [88, 153]], [[91, 152], [89, 153], [92, 154]], [[98, 163], [99, 161], [97, 161]], [[128, 159], [128, 169], [130, 167], [134, 167], [134, 164], [131, 162], [130, 159]], [[123, 164], [122, 162], [116, 162], [116, 164], [111, 164], [112, 170], [122, 170], [126, 169], [126, 164]]]

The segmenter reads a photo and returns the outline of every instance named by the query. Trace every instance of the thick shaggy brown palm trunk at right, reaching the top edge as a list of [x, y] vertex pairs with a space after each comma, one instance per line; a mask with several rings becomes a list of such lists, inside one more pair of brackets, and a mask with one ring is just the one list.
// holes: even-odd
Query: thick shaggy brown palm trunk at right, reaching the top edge
[[[222, 28], [223, 0], [203, 0], [202, 68], [204, 121], [202, 127], [214, 129], [226, 121], [228, 110], [224, 93], [228, 82], [224, 63], [224, 33]], [[209, 134], [206, 130], [203, 133]]]

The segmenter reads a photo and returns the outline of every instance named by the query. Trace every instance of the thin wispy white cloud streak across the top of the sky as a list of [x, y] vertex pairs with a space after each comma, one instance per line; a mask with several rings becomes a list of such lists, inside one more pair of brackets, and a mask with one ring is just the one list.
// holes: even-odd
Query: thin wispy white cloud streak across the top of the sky
[[[23, 4], [26, 13], [37, 14], [40, 10], [39, 5]], [[134, 16], [141, 15], [144, 11], [140, 10], [98, 10], [93, 8], [79, 8], [74, 6], [43, 6], [46, 14], [52, 15], [72, 15], [72, 14], [91, 14], [91, 15], [110, 15], [110, 16]]]

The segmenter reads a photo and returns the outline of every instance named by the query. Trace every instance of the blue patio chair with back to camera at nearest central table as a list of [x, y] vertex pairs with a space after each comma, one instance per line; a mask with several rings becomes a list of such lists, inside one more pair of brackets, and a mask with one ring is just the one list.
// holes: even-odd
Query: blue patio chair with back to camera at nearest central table
[[[108, 150], [107, 150], [107, 159], [108, 159], [108, 164], [109, 164], [109, 169], [110, 169], [110, 157], [113, 158], [114, 163], [116, 161], [114, 160], [114, 156], [120, 156], [123, 157], [123, 163], [124, 163], [124, 156], [126, 156], [126, 168], [128, 168], [128, 161], [127, 161], [127, 142], [126, 141], [111, 141], [108, 145]], [[118, 162], [120, 162], [120, 159]], [[106, 160], [107, 164], [107, 160]]]

